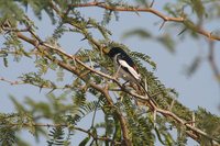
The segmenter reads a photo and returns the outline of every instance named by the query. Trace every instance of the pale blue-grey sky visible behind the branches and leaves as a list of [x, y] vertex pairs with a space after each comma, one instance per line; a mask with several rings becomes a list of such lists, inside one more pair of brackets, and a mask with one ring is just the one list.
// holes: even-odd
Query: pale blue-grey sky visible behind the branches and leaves
[[[162, 10], [158, 2], [155, 2], [155, 9]], [[101, 20], [101, 9], [82, 9], [85, 15], [95, 16], [97, 20]], [[163, 11], [163, 10], [162, 10]], [[51, 26], [48, 16], [43, 14], [43, 20], [36, 20], [31, 9], [28, 10], [30, 18], [35, 20], [36, 26], [38, 26], [37, 34], [43, 38], [46, 38], [53, 33], [54, 26]], [[132, 50], [142, 52], [152, 57], [157, 64], [157, 69], [154, 71], [155, 76], [168, 88], [175, 88], [179, 93], [178, 101], [191, 110], [197, 110], [198, 106], [205, 108], [213, 114], [220, 115], [218, 105], [220, 104], [220, 87], [215, 80], [215, 76], [207, 60], [204, 60], [199, 69], [190, 78], [184, 75], [184, 69], [187, 65], [190, 65], [193, 59], [200, 54], [202, 57], [208, 57], [207, 41], [202, 37], [200, 41], [195, 41], [191, 37], [186, 38], [184, 42], [179, 40], [177, 34], [180, 30], [172, 30], [173, 36], [178, 42], [176, 45], [175, 54], [168, 53], [163, 45], [152, 40], [142, 40], [140, 37], [131, 37], [128, 40], [121, 40], [124, 32], [132, 29], [142, 27], [151, 30], [154, 36], [162, 35], [165, 33], [164, 30], [158, 31], [160, 25], [155, 25], [162, 20], [151, 13], [140, 13], [140, 16], [135, 13], [120, 13], [119, 21], [113, 21], [108, 25], [108, 29], [112, 32], [111, 40], [114, 42], [123, 43], [129, 46]], [[169, 23], [167, 23], [169, 24]], [[167, 25], [166, 24], [166, 25]], [[219, 29], [219, 23], [211, 23], [207, 25], [207, 29], [213, 30]], [[98, 35], [100, 36], [100, 35]], [[86, 42], [79, 42], [82, 37], [80, 35], [66, 34], [61, 40], [61, 45], [67, 52], [74, 54], [78, 48], [87, 47]], [[2, 45], [2, 37], [0, 37], [0, 44]], [[32, 48], [26, 45], [28, 48]], [[220, 63], [220, 42], [216, 43], [216, 58], [217, 63]], [[11, 60], [11, 61], [10, 61]], [[0, 60], [0, 77], [18, 80], [16, 77], [21, 76], [22, 72], [29, 72], [35, 70], [34, 64], [31, 59], [22, 59], [19, 64], [13, 61], [10, 57], [9, 68], [3, 67], [2, 59]], [[145, 65], [148, 69], [152, 69], [147, 64]], [[220, 65], [218, 64], [220, 68]], [[55, 77], [50, 71], [47, 77]], [[67, 76], [70, 77], [70, 76]], [[67, 79], [69, 80], [69, 79]], [[9, 94], [16, 97], [19, 101], [23, 101], [24, 97], [31, 97], [34, 100], [45, 101], [45, 93], [48, 90], [38, 91], [38, 88], [32, 86], [10, 86], [6, 82], [0, 81], [0, 112], [10, 113], [14, 112], [12, 102], [9, 100]], [[90, 122], [90, 119], [84, 120], [81, 125], [86, 125]], [[33, 146], [46, 145], [46, 141], [42, 139], [40, 144], [35, 144], [34, 137], [26, 132], [23, 133], [25, 139], [31, 142]], [[77, 138], [76, 138], [77, 139]]]

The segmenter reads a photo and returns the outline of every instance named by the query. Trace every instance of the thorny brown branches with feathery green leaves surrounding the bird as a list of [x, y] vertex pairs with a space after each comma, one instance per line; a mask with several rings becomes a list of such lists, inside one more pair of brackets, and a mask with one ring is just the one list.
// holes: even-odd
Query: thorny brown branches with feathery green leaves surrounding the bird
[[[145, 0], [134, 0], [134, 2], [145, 5], [145, 9], [151, 7], [151, 3]], [[216, 3], [211, 0], [208, 2], [213, 5]], [[103, 18], [96, 20], [87, 13], [84, 14], [84, 7], [105, 9]], [[202, 20], [208, 15], [220, 16], [219, 13], [215, 15], [206, 11], [207, 7], [209, 5], [201, 0], [178, 0], [175, 3], [166, 3], [164, 11], [172, 16], [184, 18], [182, 22], [172, 25], [183, 29], [180, 35], [199, 38], [198, 33]], [[186, 8], [190, 8], [191, 12], [185, 11]], [[0, 113], [0, 144], [28, 145], [18, 135], [23, 130], [28, 130], [36, 139], [40, 136], [47, 136], [48, 146], [74, 145], [72, 139], [79, 132], [86, 135], [79, 139], [79, 146], [153, 146], [157, 142], [162, 145], [180, 146], [187, 145], [188, 137], [206, 146], [213, 145], [213, 143], [220, 144], [219, 116], [202, 108], [191, 111], [183, 105], [177, 100], [178, 93], [175, 89], [166, 88], [154, 76], [154, 72], [145, 68], [146, 63], [154, 70], [156, 69], [156, 63], [150, 56], [132, 52], [125, 45], [111, 41], [114, 32], [107, 27], [113, 21], [112, 18], [120, 21], [120, 10], [134, 11], [139, 14], [138, 9], [139, 7], [123, 0], [1, 0], [0, 33], [3, 36], [3, 45], [0, 49], [0, 57], [3, 65], [11, 67], [10, 57], [18, 63], [24, 57], [32, 60], [35, 70], [23, 71], [18, 78], [21, 81], [13, 83], [35, 86], [43, 93], [46, 91], [47, 101], [35, 100], [33, 96], [26, 97], [22, 103], [18, 98], [10, 96], [15, 112]], [[32, 11], [38, 20], [43, 20], [45, 14], [51, 19], [55, 27], [51, 35], [46, 34], [46, 40], [38, 35], [37, 31], [43, 32], [44, 30], [37, 30], [35, 26], [37, 23], [31, 20], [33, 15], [25, 14], [29, 11]], [[191, 15], [196, 16], [196, 20]], [[168, 20], [164, 20], [164, 23], [166, 21]], [[80, 49], [75, 54], [72, 48], [63, 48], [62, 38], [67, 34], [76, 35], [77, 37], [73, 40], [80, 44]], [[154, 36], [148, 30], [134, 29], [127, 32], [123, 38], [133, 35], [151, 38], [161, 43], [170, 53], [175, 52], [176, 43], [169, 32]], [[33, 46], [26, 47], [24, 42]], [[103, 52], [106, 46], [108, 48], [118, 46], [130, 54], [146, 80], [148, 94], [156, 102], [156, 106], [166, 114], [158, 113], [160, 111], [152, 109], [147, 102], [135, 99], [130, 92], [133, 91], [131, 87], [122, 86], [120, 80], [114, 80], [116, 70], [113, 70], [112, 61]], [[78, 49], [75, 44], [73, 47]], [[188, 75], [197, 69], [199, 63], [200, 58], [194, 61], [187, 71]], [[56, 81], [51, 72], [55, 72]], [[69, 72], [70, 77], [68, 77]], [[41, 92], [40, 96], [43, 93]], [[140, 102], [143, 104], [139, 105]], [[195, 113], [195, 121], [191, 122], [193, 113]], [[179, 122], [173, 114], [185, 123]], [[87, 121], [86, 127], [81, 126], [85, 120]], [[190, 128], [187, 122], [191, 122], [193, 128], [197, 131]]]

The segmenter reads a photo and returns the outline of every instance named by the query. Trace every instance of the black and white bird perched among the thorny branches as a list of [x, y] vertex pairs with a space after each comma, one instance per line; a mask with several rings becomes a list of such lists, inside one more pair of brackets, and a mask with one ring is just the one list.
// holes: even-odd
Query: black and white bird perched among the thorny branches
[[114, 69], [118, 77], [128, 82], [140, 83], [141, 75], [132, 58], [120, 47], [112, 47], [108, 56], [113, 60]]

